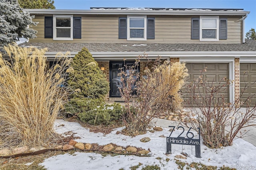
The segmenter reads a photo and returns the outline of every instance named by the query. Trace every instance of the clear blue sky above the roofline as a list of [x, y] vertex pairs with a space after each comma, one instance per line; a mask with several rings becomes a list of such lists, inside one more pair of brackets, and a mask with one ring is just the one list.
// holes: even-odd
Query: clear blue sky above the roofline
[[236, 8], [250, 11], [245, 33], [256, 29], [256, 0], [54, 0], [56, 9], [90, 10], [90, 7], [112, 8]]

